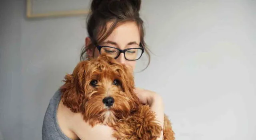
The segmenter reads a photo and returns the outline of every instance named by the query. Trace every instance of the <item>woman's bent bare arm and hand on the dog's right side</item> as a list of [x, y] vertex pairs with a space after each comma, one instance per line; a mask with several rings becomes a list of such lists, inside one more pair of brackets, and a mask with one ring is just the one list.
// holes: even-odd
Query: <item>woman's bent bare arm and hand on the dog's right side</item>
[[[156, 119], [160, 122], [162, 128], [164, 128], [164, 103], [162, 101], [162, 97], [156, 94], [153, 91], [136, 88], [135, 92], [137, 93], [138, 98], [144, 104], [148, 104], [152, 111], [156, 113]], [[158, 140], [162, 140], [163, 131]]]

